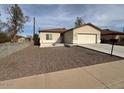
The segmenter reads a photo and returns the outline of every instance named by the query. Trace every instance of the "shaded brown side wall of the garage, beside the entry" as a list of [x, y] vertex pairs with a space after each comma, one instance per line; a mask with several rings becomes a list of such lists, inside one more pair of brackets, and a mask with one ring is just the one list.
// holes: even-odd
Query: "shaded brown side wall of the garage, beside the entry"
[[64, 43], [73, 43], [73, 30], [64, 33]]

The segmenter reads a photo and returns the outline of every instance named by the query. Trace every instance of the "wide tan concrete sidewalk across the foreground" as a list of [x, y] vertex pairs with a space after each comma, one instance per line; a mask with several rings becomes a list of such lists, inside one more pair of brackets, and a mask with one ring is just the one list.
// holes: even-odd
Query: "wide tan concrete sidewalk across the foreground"
[[0, 88], [124, 88], [124, 60], [0, 81]]

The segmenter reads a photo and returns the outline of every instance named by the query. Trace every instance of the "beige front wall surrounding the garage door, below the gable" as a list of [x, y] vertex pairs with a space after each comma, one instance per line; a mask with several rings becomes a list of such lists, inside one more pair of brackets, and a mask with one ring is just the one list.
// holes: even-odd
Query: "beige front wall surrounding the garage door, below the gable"
[[[96, 34], [96, 38], [97, 38], [97, 41], [96, 43], [100, 43], [101, 42], [101, 32], [89, 25], [87, 26], [83, 26], [83, 27], [79, 27], [79, 28], [76, 28], [74, 29], [73, 31], [73, 43], [74, 44], [77, 44], [78, 43], [78, 34], [79, 33], [82, 33], [82, 34]], [[86, 38], [88, 39], [88, 38]]]

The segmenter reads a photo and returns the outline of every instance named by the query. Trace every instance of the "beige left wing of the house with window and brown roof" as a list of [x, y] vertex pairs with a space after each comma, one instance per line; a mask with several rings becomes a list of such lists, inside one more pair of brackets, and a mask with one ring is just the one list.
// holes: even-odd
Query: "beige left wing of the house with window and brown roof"
[[65, 31], [65, 28], [41, 30], [39, 34], [40, 47], [50, 47], [63, 43], [63, 32]]

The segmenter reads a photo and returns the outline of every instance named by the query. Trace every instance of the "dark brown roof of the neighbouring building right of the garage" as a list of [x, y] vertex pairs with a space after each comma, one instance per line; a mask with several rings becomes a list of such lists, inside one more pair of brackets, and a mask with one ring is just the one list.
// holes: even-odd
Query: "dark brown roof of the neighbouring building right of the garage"
[[113, 31], [110, 29], [103, 29], [101, 31], [102, 35], [124, 35], [124, 32]]

